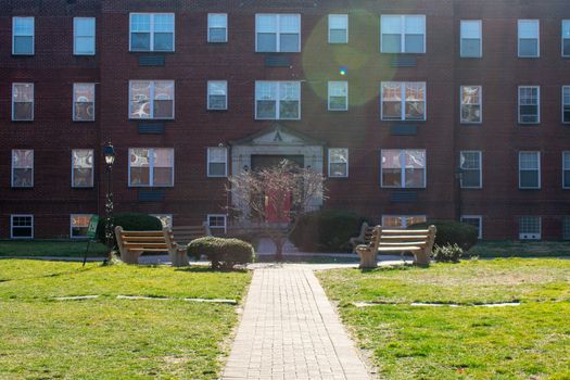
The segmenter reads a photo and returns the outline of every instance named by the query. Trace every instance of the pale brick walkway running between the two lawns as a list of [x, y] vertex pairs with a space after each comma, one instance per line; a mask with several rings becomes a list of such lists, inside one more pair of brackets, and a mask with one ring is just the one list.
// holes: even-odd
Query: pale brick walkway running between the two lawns
[[313, 271], [254, 271], [223, 379], [370, 379]]

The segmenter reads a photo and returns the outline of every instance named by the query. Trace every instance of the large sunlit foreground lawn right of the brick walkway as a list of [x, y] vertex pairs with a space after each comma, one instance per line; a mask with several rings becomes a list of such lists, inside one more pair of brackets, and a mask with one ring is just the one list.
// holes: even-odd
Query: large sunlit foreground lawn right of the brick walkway
[[[381, 378], [570, 379], [570, 259], [339, 269], [318, 277]], [[521, 305], [472, 306], [512, 301]]]

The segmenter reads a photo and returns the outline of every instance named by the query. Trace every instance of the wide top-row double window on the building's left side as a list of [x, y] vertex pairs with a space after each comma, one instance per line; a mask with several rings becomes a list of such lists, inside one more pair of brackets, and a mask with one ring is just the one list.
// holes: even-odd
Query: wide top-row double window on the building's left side
[[130, 13], [130, 51], [174, 51], [174, 13]]

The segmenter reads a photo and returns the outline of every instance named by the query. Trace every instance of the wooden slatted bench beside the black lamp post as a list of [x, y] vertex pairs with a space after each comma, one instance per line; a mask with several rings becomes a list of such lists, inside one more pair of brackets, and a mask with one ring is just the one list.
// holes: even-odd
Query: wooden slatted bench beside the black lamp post
[[127, 264], [138, 264], [142, 252], [168, 252], [173, 266], [188, 266], [186, 246], [174, 241], [173, 231], [163, 228], [161, 231], [125, 231], [115, 227], [115, 236], [121, 252], [121, 259]]

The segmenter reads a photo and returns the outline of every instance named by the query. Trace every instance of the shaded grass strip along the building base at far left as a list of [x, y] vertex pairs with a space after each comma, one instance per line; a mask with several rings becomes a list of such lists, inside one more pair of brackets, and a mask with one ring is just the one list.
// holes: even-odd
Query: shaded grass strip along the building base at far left
[[[0, 240], [1, 256], [52, 256], [52, 257], [83, 257], [87, 241], [73, 240]], [[91, 243], [88, 257], [104, 257], [107, 254], [104, 244]]]

